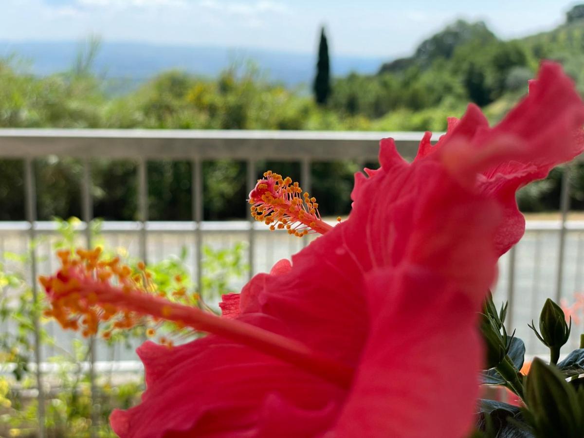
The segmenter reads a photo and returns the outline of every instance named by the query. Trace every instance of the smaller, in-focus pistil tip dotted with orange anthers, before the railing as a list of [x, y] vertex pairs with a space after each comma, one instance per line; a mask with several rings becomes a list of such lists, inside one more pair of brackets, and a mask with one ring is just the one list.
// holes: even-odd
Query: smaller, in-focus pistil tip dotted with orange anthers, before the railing
[[290, 177], [266, 171], [249, 193], [252, 217], [270, 226], [303, 237], [311, 232], [325, 234], [332, 226], [322, 220], [316, 199]]

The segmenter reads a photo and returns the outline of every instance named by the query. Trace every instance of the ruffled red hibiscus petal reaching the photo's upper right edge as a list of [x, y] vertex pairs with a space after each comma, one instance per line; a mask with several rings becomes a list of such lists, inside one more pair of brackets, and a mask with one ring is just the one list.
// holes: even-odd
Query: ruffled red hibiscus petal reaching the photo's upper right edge
[[436, 145], [425, 135], [415, 161], [447, 151], [450, 156], [446, 159], [456, 161], [454, 166], [465, 163], [473, 171], [484, 168], [478, 189], [497, 199], [505, 211], [495, 237], [497, 252], [502, 255], [525, 230], [516, 191], [545, 178], [554, 166], [584, 150], [582, 123], [584, 106], [572, 80], [559, 64], [543, 62], [538, 78], [530, 81], [529, 95], [498, 126], [489, 129], [481, 110], [469, 105], [460, 121], [449, 120], [447, 133]]

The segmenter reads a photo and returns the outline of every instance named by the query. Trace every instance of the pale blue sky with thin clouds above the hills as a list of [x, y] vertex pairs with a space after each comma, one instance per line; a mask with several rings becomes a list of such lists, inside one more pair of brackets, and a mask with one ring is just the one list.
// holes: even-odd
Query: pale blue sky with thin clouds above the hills
[[325, 23], [336, 54], [394, 57], [456, 18], [502, 37], [551, 29], [562, 0], [2, 0], [0, 40], [148, 41], [311, 53]]

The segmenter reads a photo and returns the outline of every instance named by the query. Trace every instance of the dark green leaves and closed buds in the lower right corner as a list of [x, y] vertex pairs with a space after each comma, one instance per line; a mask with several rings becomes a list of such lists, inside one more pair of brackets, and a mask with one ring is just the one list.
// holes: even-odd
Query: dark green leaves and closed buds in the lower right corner
[[[496, 311], [489, 295], [483, 318], [502, 328], [505, 306]], [[502, 317], [503, 315], [503, 317]], [[531, 326], [533, 328], [533, 326]], [[533, 328], [534, 329], [534, 328]], [[527, 376], [520, 374], [525, 347], [514, 338], [505, 359], [492, 370], [483, 371], [483, 383], [502, 385], [523, 402], [520, 408], [494, 400], [481, 400], [477, 431], [473, 437], [577, 438], [584, 436], [584, 349], [577, 349], [557, 363], [559, 347], [565, 344], [569, 327], [561, 308], [551, 300], [544, 304], [537, 338], [550, 346], [550, 364], [536, 357]], [[485, 331], [482, 331], [485, 333]], [[584, 335], [581, 336], [581, 342]], [[488, 345], [488, 343], [487, 343]], [[556, 364], [557, 363], [557, 364]], [[501, 365], [507, 366], [502, 367]], [[566, 381], [568, 378], [568, 381]]]

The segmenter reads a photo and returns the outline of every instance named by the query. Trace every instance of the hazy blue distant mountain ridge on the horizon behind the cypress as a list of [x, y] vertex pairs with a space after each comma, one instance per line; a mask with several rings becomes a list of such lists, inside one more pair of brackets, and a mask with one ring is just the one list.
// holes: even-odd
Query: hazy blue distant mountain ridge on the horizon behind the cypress
[[[18, 55], [30, 61], [30, 69], [37, 75], [50, 75], [71, 68], [78, 51], [79, 43], [75, 41], [0, 41], [0, 57]], [[316, 54], [255, 48], [105, 41], [95, 58], [94, 69], [98, 74], [105, 74], [106, 78], [122, 79], [135, 85], [168, 69], [213, 77], [234, 60], [253, 60], [270, 79], [288, 86], [311, 82], [317, 61]], [[335, 76], [345, 76], [350, 72], [372, 74], [382, 62], [382, 58], [332, 54], [331, 68]]]

